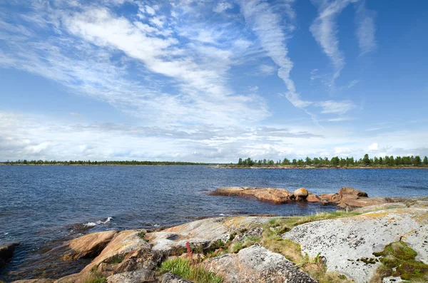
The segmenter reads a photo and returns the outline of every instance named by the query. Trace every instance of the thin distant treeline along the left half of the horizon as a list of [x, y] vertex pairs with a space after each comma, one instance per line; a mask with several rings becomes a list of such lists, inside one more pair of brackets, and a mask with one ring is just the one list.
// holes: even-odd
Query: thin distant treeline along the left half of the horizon
[[6, 161], [5, 165], [208, 165], [208, 163], [190, 163], [176, 161], [91, 161], [91, 160], [16, 160]]

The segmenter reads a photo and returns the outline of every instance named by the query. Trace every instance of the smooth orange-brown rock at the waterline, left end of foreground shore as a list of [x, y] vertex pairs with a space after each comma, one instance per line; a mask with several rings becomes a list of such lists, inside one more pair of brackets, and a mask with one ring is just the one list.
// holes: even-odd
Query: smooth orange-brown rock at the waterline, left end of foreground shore
[[71, 240], [66, 245], [71, 251], [63, 254], [63, 260], [96, 257], [117, 234], [117, 231], [96, 232]]

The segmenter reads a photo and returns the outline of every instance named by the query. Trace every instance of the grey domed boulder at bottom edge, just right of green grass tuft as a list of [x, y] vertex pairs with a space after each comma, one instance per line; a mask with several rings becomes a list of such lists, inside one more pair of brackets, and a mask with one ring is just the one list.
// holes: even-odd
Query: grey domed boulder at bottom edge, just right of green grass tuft
[[241, 249], [238, 254], [225, 254], [207, 259], [203, 267], [225, 278], [225, 283], [234, 282], [287, 282], [315, 283], [293, 262], [285, 259], [282, 254], [270, 252], [256, 244]]

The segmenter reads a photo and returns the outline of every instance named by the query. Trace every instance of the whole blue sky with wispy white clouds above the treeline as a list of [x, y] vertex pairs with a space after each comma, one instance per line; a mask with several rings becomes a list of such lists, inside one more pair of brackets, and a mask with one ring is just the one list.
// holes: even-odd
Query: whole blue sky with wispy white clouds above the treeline
[[428, 1], [0, 0], [0, 161], [428, 155]]

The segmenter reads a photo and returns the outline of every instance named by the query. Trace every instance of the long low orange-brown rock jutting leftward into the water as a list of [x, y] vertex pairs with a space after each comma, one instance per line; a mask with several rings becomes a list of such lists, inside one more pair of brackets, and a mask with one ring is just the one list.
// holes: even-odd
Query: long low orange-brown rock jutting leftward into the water
[[285, 189], [271, 187], [221, 187], [210, 195], [225, 195], [255, 198], [263, 202], [282, 204], [291, 202], [292, 193]]

